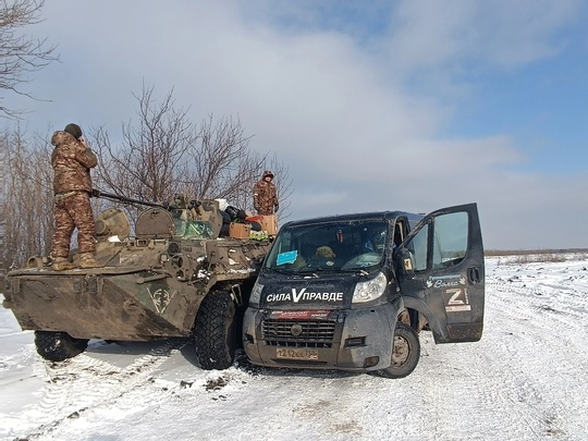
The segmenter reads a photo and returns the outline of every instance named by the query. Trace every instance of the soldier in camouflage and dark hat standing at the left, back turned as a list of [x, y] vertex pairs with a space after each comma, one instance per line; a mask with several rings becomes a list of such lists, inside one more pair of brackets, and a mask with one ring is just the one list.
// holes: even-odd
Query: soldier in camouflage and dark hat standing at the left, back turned
[[75, 268], [68, 260], [70, 241], [77, 228], [79, 268], [97, 268], [101, 265], [94, 258], [96, 250], [96, 226], [89, 197], [91, 194], [90, 169], [98, 160], [77, 124], [68, 124], [51, 138], [54, 146], [51, 166], [54, 170], [53, 193], [56, 195], [56, 232], [51, 250], [52, 269], [56, 271]]

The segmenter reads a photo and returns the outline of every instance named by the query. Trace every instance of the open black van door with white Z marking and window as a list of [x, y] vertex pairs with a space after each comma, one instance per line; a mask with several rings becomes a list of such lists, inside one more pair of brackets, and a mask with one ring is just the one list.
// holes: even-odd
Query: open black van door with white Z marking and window
[[394, 257], [404, 305], [425, 315], [436, 343], [481, 339], [485, 267], [476, 204], [427, 215]]

